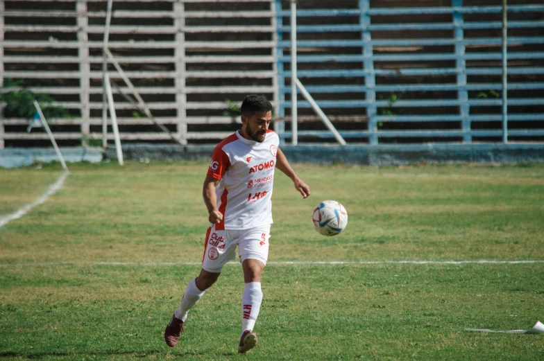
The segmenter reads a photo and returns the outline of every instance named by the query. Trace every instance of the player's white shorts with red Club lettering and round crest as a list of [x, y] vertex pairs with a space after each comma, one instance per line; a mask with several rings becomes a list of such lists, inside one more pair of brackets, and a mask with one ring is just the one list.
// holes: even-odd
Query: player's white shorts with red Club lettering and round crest
[[202, 257], [202, 268], [207, 272], [219, 273], [223, 266], [236, 258], [236, 246], [240, 263], [248, 258], [266, 265], [269, 258], [270, 225], [250, 229], [207, 229], [206, 243]]

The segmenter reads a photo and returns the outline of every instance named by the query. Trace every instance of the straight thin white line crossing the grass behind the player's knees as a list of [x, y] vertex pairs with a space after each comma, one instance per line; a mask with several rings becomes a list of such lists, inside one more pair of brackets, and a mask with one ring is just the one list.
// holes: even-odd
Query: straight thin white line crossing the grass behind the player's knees
[[[519, 265], [544, 263], [544, 260], [522, 261], [272, 261], [267, 265]], [[201, 262], [36, 262], [36, 263], [0, 263], [0, 267], [28, 267], [28, 266], [175, 266], [201, 265]], [[229, 262], [227, 265], [239, 265], [238, 262]]]

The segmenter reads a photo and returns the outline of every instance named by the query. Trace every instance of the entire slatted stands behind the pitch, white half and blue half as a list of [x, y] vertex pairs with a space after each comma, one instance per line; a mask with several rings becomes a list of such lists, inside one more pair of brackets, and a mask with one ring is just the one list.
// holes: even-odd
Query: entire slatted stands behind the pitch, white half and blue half
[[[508, 0], [505, 22], [504, 3], [298, 1], [298, 78], [347, 143], [541, 143], [544, 5]], [[50, 102], [60, 147], [104, 146], [107, 59], [122, 143], [176, 143], [135, 107], [105, 57], [107, 8], [1, 1], [3, 94], [24, 87]], [[292, 143], [291, 1], [114, 0], [110, 24], [108, 49], [178, 143], [214, 144], [237, 130], [246, 94], [271, 100], [273, 127]], [[337, 143], [300, 91], [298, 100], [297, 141]], [[0, 148], [49, 147], [19, 110], [3, 109]], [[106, 138], [113, 144], [109, 121]]]

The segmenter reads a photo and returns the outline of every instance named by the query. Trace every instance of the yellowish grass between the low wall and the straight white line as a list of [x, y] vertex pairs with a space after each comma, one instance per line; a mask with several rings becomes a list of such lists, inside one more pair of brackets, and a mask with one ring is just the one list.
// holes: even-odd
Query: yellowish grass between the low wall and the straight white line
[[[62, 191], [0, 230], [0, 262], [200, 261], [207, 164], [71, 168]], [[312, 196], [301, 200], [278, 172], [269, 261], [543, 258], [542, 165], [295, 168]], [[467, 175], [458, 176], [463, 171]], [[509, 182], [496, 184], [502, 178]], [[340, 236], [323, 237], [312, 228], [312, 209], [325, 199], [348, 209]]]

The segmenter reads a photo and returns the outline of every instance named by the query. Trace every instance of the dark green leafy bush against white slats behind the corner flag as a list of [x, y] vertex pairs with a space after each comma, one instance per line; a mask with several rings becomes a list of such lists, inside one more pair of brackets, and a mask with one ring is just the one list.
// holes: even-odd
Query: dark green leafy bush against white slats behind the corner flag
[[4, 109], [5, 116], [31, 118], [36, 112], [33, 103], [34, 100], [40, 103], [46, 119], [65, 118], [69, 116], [64, 107], [52, 105], [55, 100], [49, 94], [34, 93], [26, 89], [24, 87], [24, 80], [8, 78], [4, 81], [4, 89], [0, 92], [0, 101], [6, 102], [6, 108]]

